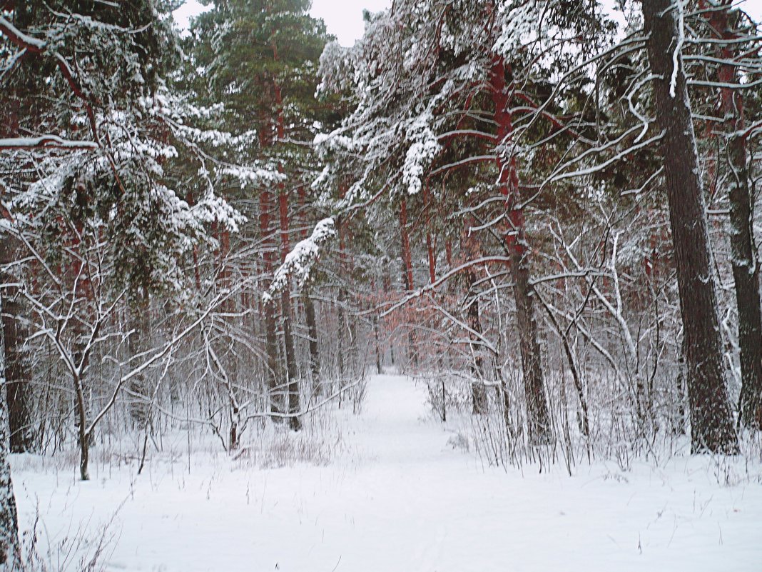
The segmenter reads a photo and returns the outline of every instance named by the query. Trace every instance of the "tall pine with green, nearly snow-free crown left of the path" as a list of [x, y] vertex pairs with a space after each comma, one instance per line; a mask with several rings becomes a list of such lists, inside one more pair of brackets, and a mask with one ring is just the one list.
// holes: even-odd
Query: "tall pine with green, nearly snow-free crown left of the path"
[[[261, 165], [276, 174], [250, 178], [251, 185], [229, 191], [233, 201], [248, 200], [251, 190], [259, 195], [264, 290], [270, 287], [277, 265], [290, 252], [297, 194], [299, 189], [309, 187], [316, 174], [309, 144], [315, 124], [326, 121], [331, 111], [313, 97], [318, 82], [317, 61], [328, 36], [325, 24], [311, 18], [308, 10], [309, 2], [303, 0], [216, 2], [211, 11], [197, 18], [187, 45], [197, 72], [191, 86], [199, 100], [222, 101], [226, 126], [243, 125], [257, 133], [258, 144], [236, 150], [229, 161], [243, 165], [249, 172]], [[244, 188], [248, 186], [251, 190]], [[280, 240], [276, 235], [279, 230]], [[313, 322], [310, 331], [316, 333], [314, 307], [307, 295], [306, 316]], [[263, 308], [271, 412], [274, 419], [287, 414], [292, 429], [299, 429], [299, 373], [290, 284], [284, 284], [280, 292], [280, 308], [275, 304], [276, 300], [268, 297]], [[319, 362], [316, 351], [317, 345], [311, 343], [313, 377], [317, 376]]]

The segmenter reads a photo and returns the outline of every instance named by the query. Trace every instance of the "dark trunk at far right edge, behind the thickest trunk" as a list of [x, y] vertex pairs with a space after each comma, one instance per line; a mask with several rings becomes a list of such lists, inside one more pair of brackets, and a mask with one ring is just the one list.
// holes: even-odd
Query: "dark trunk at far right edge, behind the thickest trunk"
[[[740, 44], [732, 43], [738, 33], [732, 18], [732, 2], [707, 12], [712, 31], [726, 40], [720, 50], [725, 62], [719, 69], [723, 85], [738, 83], [736, 66], [731, 62], [741, 56], [735, 53]], [[760, 311], [760, 271], [757, 248], [754, 245], [754, 212], [749, 184], [748, 151], [744, 130], [744, 95], [740, 90], [721, 89], [722, 114], [725, 117], [728, 162], [728, 191], [730, 194], [730, 247], [735, 281], [735, 303], [738, 308], [738, 347], [741, 361], [741, 397], [738, 421], [752, 429], [762, 426], [762, 311]]]

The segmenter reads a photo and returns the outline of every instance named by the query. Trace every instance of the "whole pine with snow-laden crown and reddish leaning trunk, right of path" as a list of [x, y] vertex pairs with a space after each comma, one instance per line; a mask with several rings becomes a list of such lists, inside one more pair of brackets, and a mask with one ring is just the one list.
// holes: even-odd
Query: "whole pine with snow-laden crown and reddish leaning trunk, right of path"
[[[488, 232], [502, 234], [497, 248], [511, 257], [530, 440], [536, 443], [552, 435], [520, 194], [520, 178], [535, 165], [522, 164], [517, 149], [522, 139], [543, 140], [552, 129], [563, 130], [546, 113], [551, 102], [543, 94], [553, 74], [573, 59], [556, 53], [558, 47], [580, 38], [596, 45], [603, 34], [605, 24], [597, 22], [591, 6], [568, 11], [546, 2], [395, 2], [370, 19], [354, 48], [329, 46], [322, 59], [325, 85], [349, 92], [356, 105], [323, 142], [336, 157], [329, 176], [354, 178], [345, 202], [373, 204], [374, 190], [381, 189], [394, 208], [407, 201], [409, 211], [411, 197], [424, 188], [432, 192], [424, 191], [421, 203], [450, 201], [466, 212], [480, 204], [492, 207], [495, 195], [504, 201], [502, 227]], [[539, 18], [548, 25], [536, 37]], [[491, 117], [484, 117], [487, 106]], [[533, 129], [514, 129], [514, 108]], [[552, 129], [534, 127], [548, 118]], [[479, 215], [498, 216], [491, 208]], [[469, 308], [474, 323], [474, 306]], [[474, 403], [482, 401], [478, 394], [477, 389]]]

